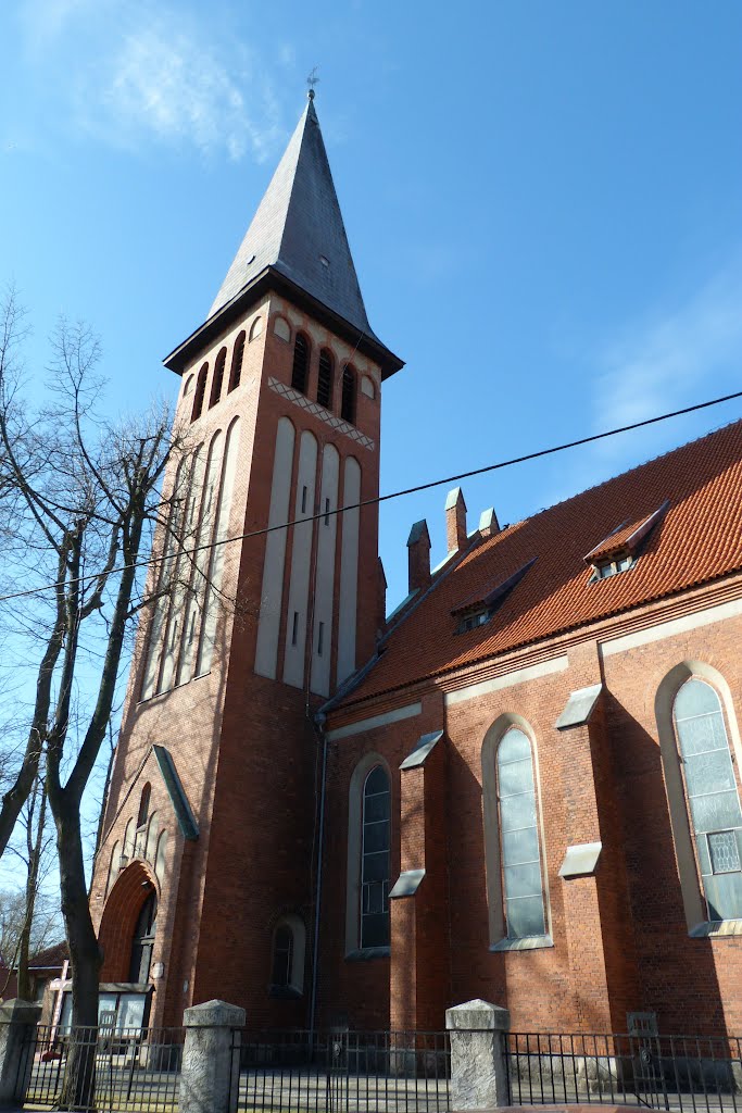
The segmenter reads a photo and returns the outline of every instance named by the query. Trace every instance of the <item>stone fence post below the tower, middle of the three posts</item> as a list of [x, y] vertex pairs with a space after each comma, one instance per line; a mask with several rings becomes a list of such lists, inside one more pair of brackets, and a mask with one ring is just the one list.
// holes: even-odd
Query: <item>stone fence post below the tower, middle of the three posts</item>
[[224, 1001], [187, 1008], [180, 1074], [180, 1113], [235, 1113], [239, 1089], [239, 1036], [245, 1009]]

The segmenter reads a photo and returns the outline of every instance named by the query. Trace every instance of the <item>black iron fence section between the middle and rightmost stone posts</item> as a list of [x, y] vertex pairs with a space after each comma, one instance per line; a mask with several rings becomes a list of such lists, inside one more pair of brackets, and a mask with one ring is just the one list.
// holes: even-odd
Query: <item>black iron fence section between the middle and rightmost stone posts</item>
[[[235, 1032], [237, 1109], [271, 1113], [444, 1113], [445, 1032]], [[239, 1064], [239, 1075], [237, 1072]]]

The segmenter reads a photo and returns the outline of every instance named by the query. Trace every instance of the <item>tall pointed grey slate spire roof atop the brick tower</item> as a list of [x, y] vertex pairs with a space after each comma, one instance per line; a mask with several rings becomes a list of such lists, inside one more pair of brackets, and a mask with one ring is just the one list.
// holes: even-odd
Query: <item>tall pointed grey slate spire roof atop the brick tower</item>
[[360, 296], [313, 99], [247, 229], [209, 317], [266, 267], [273, 267], [369, 339], [376, 339]]

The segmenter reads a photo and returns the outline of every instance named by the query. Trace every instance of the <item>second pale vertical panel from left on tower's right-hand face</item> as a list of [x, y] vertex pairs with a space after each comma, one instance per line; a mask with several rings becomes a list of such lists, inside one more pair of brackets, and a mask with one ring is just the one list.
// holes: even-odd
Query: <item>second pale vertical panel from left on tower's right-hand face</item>
[[305, 649], [307, 638], [307, 609], [309, 603], [309, 570], [311, 564], [311, 536], [315, 512], [315, 476], [317, 474], [317, 441], [311, 433], [301, 434], [299, 469], [296, 477], [294, 505], [294, 543], [291, 549], [291, 577], [286, 610], [286, 651], [284, 653], [284, 681], [295, 688], [304, 686]]

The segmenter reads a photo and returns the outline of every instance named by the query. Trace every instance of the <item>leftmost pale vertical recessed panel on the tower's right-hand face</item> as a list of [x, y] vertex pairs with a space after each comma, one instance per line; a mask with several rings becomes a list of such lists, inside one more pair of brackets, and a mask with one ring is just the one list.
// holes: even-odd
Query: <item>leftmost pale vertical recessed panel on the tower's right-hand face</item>
[[[288, 417], [278, 420], [276, 454], [270, 483], [268, 528], [281, 525], [289, 519], [291, 495], [291, 467], [294, 465], [294, 426]], [[284, 594], [284, 565], [286, 563], [286, 530], [273, 530], [266, 536], [266, 555], [260, 590], [260, 618], [255, 650], [255, 671], [260, 677], [276, 679], [278, 659], [278, 631], [280, 604]]]

